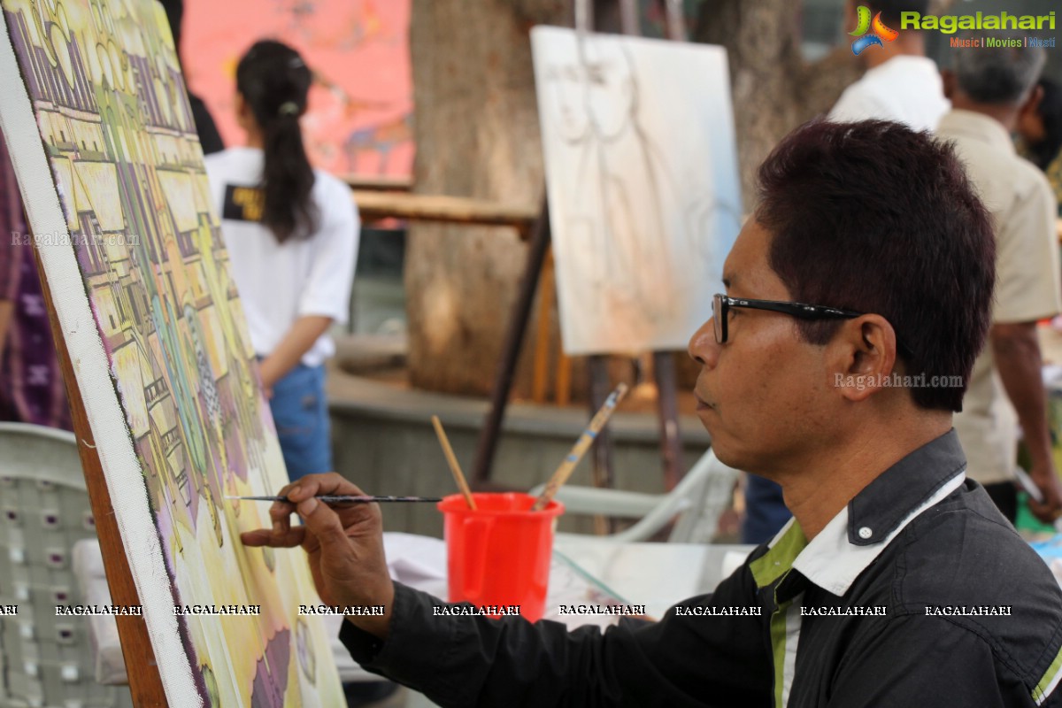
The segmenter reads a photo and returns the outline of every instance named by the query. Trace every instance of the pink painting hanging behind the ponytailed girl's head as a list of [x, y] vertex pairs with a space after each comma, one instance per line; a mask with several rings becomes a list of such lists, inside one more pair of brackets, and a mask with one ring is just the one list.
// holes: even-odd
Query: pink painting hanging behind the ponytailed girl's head
[[255, 40], [294, 47], [313, 70], [303, 118], [314, 166], [335, 175], [409, 177], [411, 0], [185, 0], [182, 58], [226, 145], [242, 144], [236, 64]]

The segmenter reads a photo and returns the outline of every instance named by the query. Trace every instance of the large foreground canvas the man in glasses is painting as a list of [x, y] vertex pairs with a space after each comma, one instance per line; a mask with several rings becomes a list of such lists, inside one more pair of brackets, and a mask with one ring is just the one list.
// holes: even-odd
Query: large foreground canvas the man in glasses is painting
[[302, 552], [243, 548], [268, 508], [225, 500], [287, 473], [166, 16], [0, 6], [0, 125], [169, 703], [343, 705]]

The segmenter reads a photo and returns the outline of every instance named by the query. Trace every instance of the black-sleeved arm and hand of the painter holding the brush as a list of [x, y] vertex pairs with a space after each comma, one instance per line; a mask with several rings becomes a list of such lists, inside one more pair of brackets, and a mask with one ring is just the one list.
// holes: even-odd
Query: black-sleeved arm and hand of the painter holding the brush
[[[311, 499], [362, 494], [357, 486], [336, 473], [309, 474], [278, 494], [293, 503], [274, 504], [272, 530], [243, 533], [243, 542], [301, 545], [326, 604], [382, 605], [382, 616], [348, 616], [341, 638], [370, 671], [439, 705], [771, 705], [767, 618], [679, 617], [672, 610], [660, 622], [626, 622], [602, 635], [596, 627], [569, 633], [556, 622], [515, 617], [436, 616], [433, 607], [450, 605], [388, 575], [378, 504], [333, 510]], [[295, 510], [304, 525], [291, 524]], [[686, 604], [750, 606], [755, 592], [744, 566], [712, 595]]]

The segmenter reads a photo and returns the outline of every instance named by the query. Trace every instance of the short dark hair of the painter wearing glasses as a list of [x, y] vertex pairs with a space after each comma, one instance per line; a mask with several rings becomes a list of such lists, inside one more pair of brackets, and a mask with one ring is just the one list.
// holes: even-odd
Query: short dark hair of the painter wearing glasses
[[[961, 410], [991, 318], [995, 238], [950, 145], [888, 121], [813, 121], [768, 156], [759, 185], [754, 217], [792, 298], [881, 315], [901, 373], [925, 375], [915, 404]], [[798, 322], [820, 345], [840, 327]], [[961, 387], [932, 385], [953, 376]]]

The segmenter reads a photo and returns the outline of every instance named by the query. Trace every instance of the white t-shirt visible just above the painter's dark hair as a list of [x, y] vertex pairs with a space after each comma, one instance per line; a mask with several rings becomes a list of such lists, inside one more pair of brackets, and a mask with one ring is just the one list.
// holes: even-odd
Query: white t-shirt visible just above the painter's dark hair
[[933, 61], [902, 54], [844, 89], [829, 120], [893, 120], [915, 131], [935, 131], [950, 107]]

